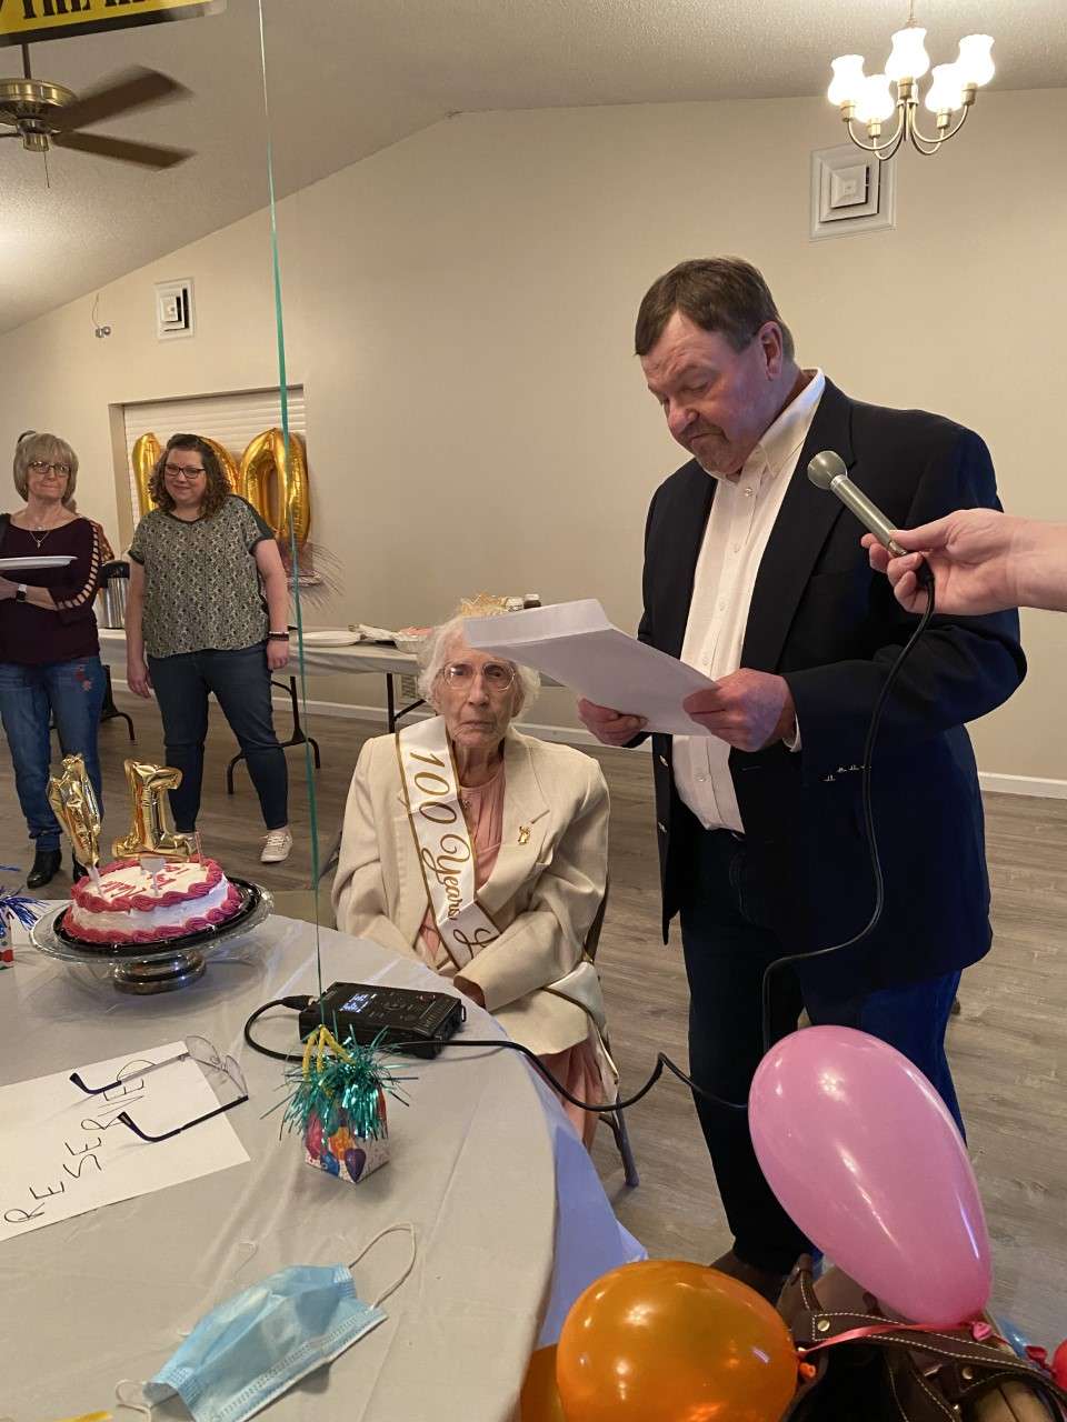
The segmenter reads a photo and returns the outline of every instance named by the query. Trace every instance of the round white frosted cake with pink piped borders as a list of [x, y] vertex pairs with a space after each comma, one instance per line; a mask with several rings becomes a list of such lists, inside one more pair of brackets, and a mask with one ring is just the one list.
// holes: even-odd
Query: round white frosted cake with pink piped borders
[[240, 892], [213, 859], [168, 860], [158, 875], [120, 859], [101, 869], [98, 884], [80, 879], [71, 897], [64, 929], [100, 944], [179, 939], [225, 923], [240, 907]]

